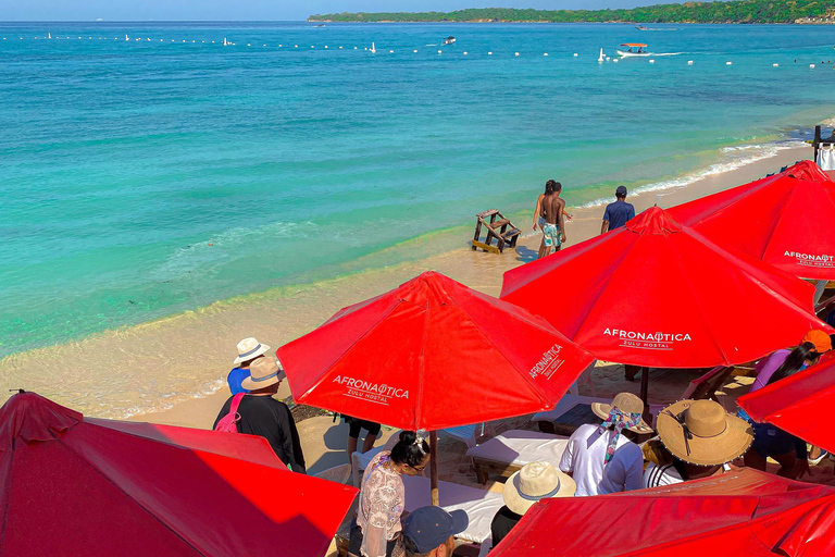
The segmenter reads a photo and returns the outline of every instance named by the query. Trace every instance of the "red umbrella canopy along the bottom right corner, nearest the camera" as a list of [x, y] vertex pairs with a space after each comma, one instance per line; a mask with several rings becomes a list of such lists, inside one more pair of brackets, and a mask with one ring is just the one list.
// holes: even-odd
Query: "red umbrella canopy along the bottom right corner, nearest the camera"
[[835, 553], [835, 488], [751, 469], [616, 495], [541, 499], [495, 557], [818, 557]]

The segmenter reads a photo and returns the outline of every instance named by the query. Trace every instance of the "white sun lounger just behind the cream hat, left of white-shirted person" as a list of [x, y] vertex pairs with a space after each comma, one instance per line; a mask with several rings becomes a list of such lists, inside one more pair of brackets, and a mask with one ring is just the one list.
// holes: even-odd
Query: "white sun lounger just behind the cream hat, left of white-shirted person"
[[504, 478], [528, 462], [543, 460], [560, 465], [569, 437], [538, 431], [510, 430], [466, 451], [475, 475], [483, 484], [490, 473]]

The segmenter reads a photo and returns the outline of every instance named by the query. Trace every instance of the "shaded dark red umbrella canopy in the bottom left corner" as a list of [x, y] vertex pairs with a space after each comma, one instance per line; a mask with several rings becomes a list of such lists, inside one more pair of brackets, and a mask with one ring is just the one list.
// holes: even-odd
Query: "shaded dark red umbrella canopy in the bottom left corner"
[[34, 393], [0, 424], [0, 555], [321, 556], [357, 494], [262, 437], [89, 420]]

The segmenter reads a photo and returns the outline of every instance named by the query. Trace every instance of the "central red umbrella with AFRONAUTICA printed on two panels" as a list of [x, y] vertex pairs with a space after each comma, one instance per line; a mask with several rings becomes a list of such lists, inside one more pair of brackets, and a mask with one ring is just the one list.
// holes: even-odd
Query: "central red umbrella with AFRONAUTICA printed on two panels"
[[435, 272], [276, 356], [298, 403], [410, 430], [553, 408], [594, 361], [545, 320]]

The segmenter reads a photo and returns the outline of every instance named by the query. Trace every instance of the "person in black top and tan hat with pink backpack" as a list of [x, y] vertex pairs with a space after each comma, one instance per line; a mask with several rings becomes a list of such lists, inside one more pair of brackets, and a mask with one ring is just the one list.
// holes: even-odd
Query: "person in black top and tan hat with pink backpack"
[[[264, 437], [290, 470], [307, 473], [296, 421], [287, 405], [273, 398], [286, 376], [284, 370], [273, 358], [259, 358], [251, 363], [249, 371], [249, 377], [241, 384], [249, 393], [244, 395], [238, 407], [238, 432]], [[221, 418], [229, 413], [233, 397], [223, 405], [214, 420], [215, 426]]]

